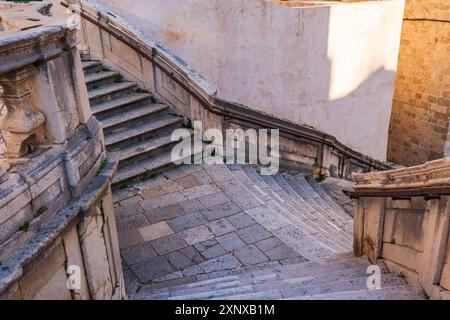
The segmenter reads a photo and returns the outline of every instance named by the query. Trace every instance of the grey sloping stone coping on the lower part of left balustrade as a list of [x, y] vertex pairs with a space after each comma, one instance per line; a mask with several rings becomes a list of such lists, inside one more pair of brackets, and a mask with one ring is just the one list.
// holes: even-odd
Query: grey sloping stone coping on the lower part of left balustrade
[[70, 201], [45, 227], [38, 230], [24, 245], [0, 263], [0, 293], [23, 275], [24, 267], [39, 256], [81, 215], [86, 215], [93, 204], [107, 192], [118, 161], [109, 157], [102, 173], [89, 184], [80, 198]]

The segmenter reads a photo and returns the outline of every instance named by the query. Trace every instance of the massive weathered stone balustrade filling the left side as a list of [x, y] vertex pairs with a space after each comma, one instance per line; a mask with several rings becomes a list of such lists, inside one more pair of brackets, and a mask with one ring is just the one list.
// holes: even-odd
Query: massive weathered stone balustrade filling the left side
[[0, 300], [120, 299], [117, 161], [90, 111], [77, 30], [50, 7], [0, 1]]

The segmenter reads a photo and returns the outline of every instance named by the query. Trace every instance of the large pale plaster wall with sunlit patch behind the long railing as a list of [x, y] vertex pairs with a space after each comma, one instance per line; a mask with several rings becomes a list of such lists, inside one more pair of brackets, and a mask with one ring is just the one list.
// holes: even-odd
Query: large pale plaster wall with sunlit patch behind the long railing
[[[229, 101], [386, 159], [403, 3], [96, 0], [163, 43]], [[145, 9], [145, 10], [144, 10]]]

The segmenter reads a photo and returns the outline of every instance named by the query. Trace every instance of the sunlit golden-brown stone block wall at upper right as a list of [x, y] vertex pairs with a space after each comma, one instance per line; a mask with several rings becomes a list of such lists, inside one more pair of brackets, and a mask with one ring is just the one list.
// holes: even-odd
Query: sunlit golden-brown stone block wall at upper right
[[406, 1], [397, 72], [388, 160], [410, 166], [449, 154], [449, 1]]

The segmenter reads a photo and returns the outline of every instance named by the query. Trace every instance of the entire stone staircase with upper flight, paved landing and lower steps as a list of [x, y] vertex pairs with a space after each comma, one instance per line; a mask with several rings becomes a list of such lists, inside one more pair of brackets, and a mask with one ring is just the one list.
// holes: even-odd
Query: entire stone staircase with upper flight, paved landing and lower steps
[[[127, 257], [124, 261], [125, 274], [130, 275], [126, 277], [127, 287], [138, 283], [136, 290], [128, 292], [131, 299], [424, 298], [419, 287], [408, 285], [402, 276], [389, 273], [382, 264], [379, 265], [381, 289], [368, 289], [367, 268], [370, 264], [365, 259], [355, 258], [351, 252], [352, 216], [310, 174], [280, 172], [274, 176], [264, 176], [259, 168], [249, 165], [186, 165], [173, 168], [171, 148], [176, 142], [171, 141], [171, 133], [183, 127], [184, 119], [170, 111], [168, 105], [159, 103], [151, 93], [139, 89], [135, 82], [125, 81], [118, 72], [104, 67], [100, 62], [84, 60], [83, 68], [92, 112], [102, 123], [106, 148], [109, 152], [120, 153], [119, 169], [113, 181], [114, 186], [118, 187], [114, 195], [116, 215], [117, 210], [122, 212], [118, 215], [119, 238], [123, 230], [128, 233], [125, 232], [122, 238], [129, 238], [131, 234], [139, 234], [142, 228], [153, 228], [156, 232], [156, 225], [161, 228], [161, 223], [165, 224], [165, 237], [157, 239], [152, 234], [151, 239], [155, 240], [135, 244], [135, 247], [122, 251], [122, 256]], [[192, 134], [192, 130], [188, 134]], [[160, 173], [163, 178], [154, 181]], [[194, 177], [202, 181], [200, 185], [193, 184]], [[182, 180], [183, 183], [180, 182]], [[132, 187], [128, 188], [131, 184]], [[157, 186], [157, 197], [145, 199], [130, 192], [129, 189], [139, 190], [139, 185]], [[143, 188], [146, 190], [146, 187]], [[167, 194], [164, 194], [165, 191]], [[152, 193], [149, 190], [143, 192]], [[219, 203], [211, 198], [212, 195], [217, 195], [219, 199], [226, 198], [229, 203], [223, 205], [229, 205], [233, 212], [224, 212], [222, 208], [211, 213], [208, 210], [220, 205], [212, 208], [206, 206], [204, 210], [192, 214], [182, 213], [194, 215], [196, 220], [204, 222], [193, 224], [195, 219], [186, 219], [186, 225], [190, 226], [180, 225], [179, 222], [175, 224], [176, 219], [183, 217], [177, 216], [179, 213], [174, 211], [174, 205], [184, 201], [185, 207], [199, 206], [197, 199], [203, 197], [210, 197], [207, 202]], [[133, 203], [134, 200], [131, 200], [135, 198], [136, 203]], [[125, 203], [131, 203], [129, 208], [132, 209], [122, 207]], [[171, 209], [164, 207], [163, 203], [170, 204]], [[152, 210], [159, 210], [158, 215], [167, 215], [167, 220], [150, 217], [156, 223], [147, 225], [151, 221], [147, 215], [150, 213], [142, 215], [139, 208], [148, 205]], [[238, 211], [241, 213], [236, 214]], [[241, 215], [241, 219], [246, 220], [245, 224], [239, 226], [240, 223], [234, 221], [232, 226], [230, 221], [233, 220], [229, 216], [234, 214]], [[256, 234], [249, 231], [252, 226], [247, 226], [248, 220], [259, 228], [254, 228]], [[216, 227], [223, 227], [225, 223], [230, 228], [227, 232], [238, 238], [233, 240], [232, 245], [228, 243], [230, 248], [219, 239], [227, 234], [216, 234], [210, 226], [216, 222]], [[135, 224], [136, 229], [129, 230], [130, 225]], [[183, 235], [186, 232], [189, 234], [189, 230], [210, 235], [213, 231], [215, 237], [196, 245], [189, 244], [186, 248], [184, 240], [189, 241]], [[191, 233], [191, 241], [192, 236]], [[202, 234], [195, 236], [201, 237]], [[177, 250], [181, 250], [172, 252], [171, 248], [161, 247], [160, 240], [167, 238], [169, 244], [174, 237], [178, 237]], [[257, 240], [251, 240], [253, 237]], [[231, 248], [236, 241], [245, 247]], [[272, 245], [274, 243], [276, 245]], [[218, 252], [222, 250], [222, 255], [215, 256], [210, 249], [205, 250], [208, 251], [206, 255], [197, 251], [199, 245], [214, 247]], [[189, 249], [196, 261], [186, 263], [189, 258], [183, 256], [182, 252], [186, 252], [183, 249]], [[247, 249], [248, 257], [245, 257]], [[158, 256], [155, 251], [162, 253]], [[178, 256], [173, 256], [175, 253]], [[252, 256], [255, 254], [257, 257]], [[185, 259], [183, 263], [189, 267], [180, 269], [173, 262], [171, 265], [167, 261], [172, 260], [166, 258], [169, 255], [172, 255], [171, 259]], [[146, 259], [149, 259], [148, 262]], [[128, 262], [131, 264], [127, 265]], [[197, 273], [184, 277], [188, 269], [190, 272], [197, 270]], [[155, 274], [154, 278], [146, 274], [146, 270]]]

